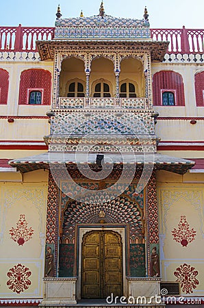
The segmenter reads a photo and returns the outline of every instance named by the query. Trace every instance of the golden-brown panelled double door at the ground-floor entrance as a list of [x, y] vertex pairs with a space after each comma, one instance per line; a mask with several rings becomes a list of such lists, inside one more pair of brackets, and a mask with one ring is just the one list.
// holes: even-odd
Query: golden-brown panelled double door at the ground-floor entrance
[[106, 298], [123, 292], [122, 243], [114, 231], [90, 231], [82, 242], [82, 298]]

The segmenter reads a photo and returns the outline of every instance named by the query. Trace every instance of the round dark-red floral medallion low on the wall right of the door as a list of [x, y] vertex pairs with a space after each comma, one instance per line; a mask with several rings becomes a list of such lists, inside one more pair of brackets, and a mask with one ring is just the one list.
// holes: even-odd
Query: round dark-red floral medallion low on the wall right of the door
[[174, 274], [177, 277], [177, 281], [181, 283], [181, 289], [184, 293], [192, 293], [193, 289], [196, 289], [197, 285], [199, 285], [199, 281], [196, 279], [198, 273], [193, 266], [186, 263], [175, 270]]

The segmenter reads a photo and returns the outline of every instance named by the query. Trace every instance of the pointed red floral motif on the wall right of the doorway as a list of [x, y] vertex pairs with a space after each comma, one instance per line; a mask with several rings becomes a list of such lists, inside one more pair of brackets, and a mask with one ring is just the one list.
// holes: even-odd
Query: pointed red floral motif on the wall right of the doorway
[[189, 224], [186, 221], [186, 216], [181, 216], [181, 219], [178, 224], [178, 229], [173, 229], [172, 235], [173, 239], [181, 243], [181, 245], [187, 246], [188, 243], [192, 242], [195, 239], [196, 231], [194, 229], [189, 229]]

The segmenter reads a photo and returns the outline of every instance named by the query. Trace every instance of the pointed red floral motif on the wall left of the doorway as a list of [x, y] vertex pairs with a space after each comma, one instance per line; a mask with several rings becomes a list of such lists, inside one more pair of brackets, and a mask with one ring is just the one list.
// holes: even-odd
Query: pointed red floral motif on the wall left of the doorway
[[31, 239], [34, 234], [34, 230], [29, 227], [27, 228], [27, 221], [25, 215], [21, 214], [18, 222], [16, 223], [16, 229], [12, 227], [10, 229], [10, 235], [14, 242], [17, 242], [19, 246], [23, 246], [25, 242]]

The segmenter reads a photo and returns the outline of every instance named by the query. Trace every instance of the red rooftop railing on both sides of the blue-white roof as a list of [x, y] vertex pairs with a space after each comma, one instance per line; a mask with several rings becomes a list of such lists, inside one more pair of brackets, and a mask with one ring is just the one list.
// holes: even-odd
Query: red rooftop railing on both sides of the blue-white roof
[[[36, 51], [36, 40], [51, 40], [54, 27], [0, 27], [0, 51]], [[153, 40], [168, 40], [168, 53], [203, 53], [204, 29], [150, 29]]]

